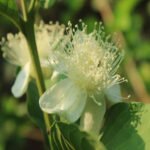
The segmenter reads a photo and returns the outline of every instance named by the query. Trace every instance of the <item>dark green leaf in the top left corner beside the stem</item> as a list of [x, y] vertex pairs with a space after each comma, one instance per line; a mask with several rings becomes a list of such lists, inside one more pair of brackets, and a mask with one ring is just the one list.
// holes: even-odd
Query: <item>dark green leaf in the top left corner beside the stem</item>
[[0, 15], [9, 19], [18, 29], [20, 20], [15, 0], [0, 0]]

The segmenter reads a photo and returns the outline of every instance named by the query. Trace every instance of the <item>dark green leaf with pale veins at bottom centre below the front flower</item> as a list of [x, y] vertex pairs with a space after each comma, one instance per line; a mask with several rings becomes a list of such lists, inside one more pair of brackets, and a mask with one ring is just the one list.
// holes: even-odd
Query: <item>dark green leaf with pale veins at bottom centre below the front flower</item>
[[105, 150], [98, 139], [81, 131], [75, 124], [57, 122], [51, 128], [50, 136], [54, 150]]

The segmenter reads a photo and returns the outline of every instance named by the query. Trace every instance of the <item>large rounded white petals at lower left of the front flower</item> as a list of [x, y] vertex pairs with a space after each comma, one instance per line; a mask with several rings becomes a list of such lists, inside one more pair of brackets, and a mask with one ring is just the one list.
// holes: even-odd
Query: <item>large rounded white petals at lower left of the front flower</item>
[[70, 79], [64, 79], [47, 90], [40, 98], [40, 107], [47, 113], [56, 113], [68, 122], [75, 122], [81, 115], [87, 94]]

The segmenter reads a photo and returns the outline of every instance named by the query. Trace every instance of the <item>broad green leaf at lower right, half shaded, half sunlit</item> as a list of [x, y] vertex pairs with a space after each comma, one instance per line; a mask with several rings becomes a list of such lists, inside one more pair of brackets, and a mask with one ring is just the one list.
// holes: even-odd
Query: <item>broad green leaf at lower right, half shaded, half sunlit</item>
[[108, 150], [149, 150], [149, 117], [149, 104], [116, 104], [106, 115], [101, 141]]

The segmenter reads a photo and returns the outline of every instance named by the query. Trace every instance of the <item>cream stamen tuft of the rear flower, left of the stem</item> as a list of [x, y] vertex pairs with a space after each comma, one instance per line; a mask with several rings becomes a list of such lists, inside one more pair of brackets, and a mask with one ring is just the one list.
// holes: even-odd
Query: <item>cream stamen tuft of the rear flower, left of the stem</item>
[[11, 64], [24, 66], [30, 59], [28, 46], [22, 33], [7, 35], [7, 41], [2, 41], [4, 58]]

